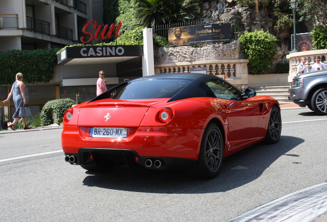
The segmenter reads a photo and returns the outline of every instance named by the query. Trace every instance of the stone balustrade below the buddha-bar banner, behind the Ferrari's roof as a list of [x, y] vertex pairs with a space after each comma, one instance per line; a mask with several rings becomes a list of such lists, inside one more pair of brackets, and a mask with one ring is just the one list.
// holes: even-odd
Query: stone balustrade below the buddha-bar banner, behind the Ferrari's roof
[[155, 75], [187, 73], [191, 67], [206, 67], [209, 75], [223, 75], [228, 82], [244, 88], [248, 82], [247, 59], [206, 60], [155, 65]]

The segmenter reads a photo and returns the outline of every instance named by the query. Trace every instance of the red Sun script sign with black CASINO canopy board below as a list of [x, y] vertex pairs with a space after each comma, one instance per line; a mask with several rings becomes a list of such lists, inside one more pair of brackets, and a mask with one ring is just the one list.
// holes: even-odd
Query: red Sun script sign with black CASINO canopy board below
[[[93, 26], [92, 26], [93, 25]], [[86, 31], [87, 28], [95, 29], [95, 32]], [[92, 40], [110, 38], [112, 34], [118, 38], [121, 23], [116, 25], [113, 23], [110, 27], [105, 25], [103, 30], [101, 26], [97, 26], [96, 21], [89, 21], [83, 28], [83, 33], [88, 36], [82, 36], [81, 42], [89, 43]], [[65, 64], [73, 59], [81, 58], [104, 58], [104, 57], [136, 57], [143, 55], [143, 47], [138, 45], [118, 45], [118, 46], [105, 46], [105, 45], [85, 45], [85, 46], [72, 46], [64, 48], [58, 54], [58, 64]]]

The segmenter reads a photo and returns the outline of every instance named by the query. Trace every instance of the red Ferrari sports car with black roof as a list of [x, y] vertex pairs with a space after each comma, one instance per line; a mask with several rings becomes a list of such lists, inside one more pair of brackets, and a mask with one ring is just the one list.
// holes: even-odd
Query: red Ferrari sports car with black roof
[[187, 168], [215, 177], [223, 158], [281, 135], [277, 100], [242, 93], [212, 75], [178, 73], [123, 82], [64, 114], [65, 160], [89, 171], [122, 164]]

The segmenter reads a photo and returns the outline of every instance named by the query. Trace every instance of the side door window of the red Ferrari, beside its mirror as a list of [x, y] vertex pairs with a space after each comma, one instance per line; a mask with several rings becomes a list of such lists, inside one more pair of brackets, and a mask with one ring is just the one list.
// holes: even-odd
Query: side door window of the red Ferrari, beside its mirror
[[240, 99], [238, 90], [223, 81], [209, 80], [206, 84], [217, 98], [229, 100]]

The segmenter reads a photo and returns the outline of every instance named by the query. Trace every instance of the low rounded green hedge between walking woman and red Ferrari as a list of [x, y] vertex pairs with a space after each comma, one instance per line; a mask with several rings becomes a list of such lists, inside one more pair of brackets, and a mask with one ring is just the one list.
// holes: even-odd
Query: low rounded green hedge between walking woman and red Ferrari
[[46, 126], [53, 123], [52, 112], [56, 115], [56, 123], [59, 125], [63, 118], [64, 113], [72, 105], [75, 105], [76, 101], [71, 99], [57, 99], [48, 101], [41, 111], [41, 125]]

